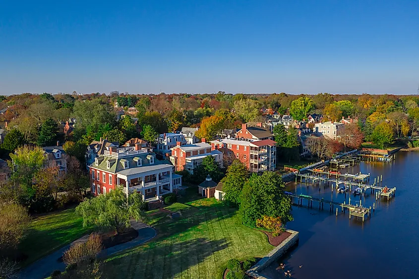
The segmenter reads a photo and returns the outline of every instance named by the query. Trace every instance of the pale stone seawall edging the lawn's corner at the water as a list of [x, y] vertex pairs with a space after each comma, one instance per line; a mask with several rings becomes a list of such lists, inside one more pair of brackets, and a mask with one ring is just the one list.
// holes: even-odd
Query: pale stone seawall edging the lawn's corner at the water
[[299, 232], [291, 229], [287, 229], [291, 233], [284, 241], [281, 242], [277, 247], [275, 247], [271, 252], [269, 252], [265, 257], [263, 257], [259, 262], [252, 266], [246, 274], [250, 278], [255, 279], [269, 279], [265, 276], [259, 274], [263, 269], [269, 266], [273, 261], [282, 257], [291, 247], [296, 245], [299, 240]]

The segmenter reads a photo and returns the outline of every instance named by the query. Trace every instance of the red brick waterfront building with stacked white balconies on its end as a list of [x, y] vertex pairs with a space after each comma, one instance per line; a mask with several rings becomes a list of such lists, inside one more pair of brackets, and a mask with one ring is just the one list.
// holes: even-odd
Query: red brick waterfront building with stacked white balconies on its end
[[223, 156], [236, 157], [253, 172], [276, 168], [276, 142], [270, 139], [214, 140], [211, 148], [223, 152]]

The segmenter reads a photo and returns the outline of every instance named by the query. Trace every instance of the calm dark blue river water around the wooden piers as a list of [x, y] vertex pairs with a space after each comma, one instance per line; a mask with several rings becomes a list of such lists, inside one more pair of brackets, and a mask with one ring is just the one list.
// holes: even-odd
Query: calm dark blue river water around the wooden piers
[[[399, 152], [393, 163], [367, 164], [361, 162], [345, 172], [383, 175], [382, 185], [397, 187], [396, 197], [389, 202], [383, 197], [378, 202], [371, 219], [349, 220], [349, 215], [339, 211], [329, 212], [329, 205], [318, 210], [293, 207], [295, 221], [288, 227], [300, 232], [299, 245], [285, 258], [274, 262], [262, 273], [272, 279], [284, 278], [278, 268], [285, 263], [292, 271], [292, 278], [322, 279], [404, 279], [419, 278], [419, 152]], [[343, 202], [345, 194], [331, 192], [330, 186], [321, 192], [318, 187], [308, 188], [299, 183], [289, 185], [290, 192]], [[351, 196], [352, 204], [359, 203]], [[367, 191], [362, 205], [371, 206], [374, 194]], [[306, 205], [306, 204], [305, 204]], [[335, 209], [336, 211], [336, 209]], [[299, 266], [302, 265], [302, 268]]]

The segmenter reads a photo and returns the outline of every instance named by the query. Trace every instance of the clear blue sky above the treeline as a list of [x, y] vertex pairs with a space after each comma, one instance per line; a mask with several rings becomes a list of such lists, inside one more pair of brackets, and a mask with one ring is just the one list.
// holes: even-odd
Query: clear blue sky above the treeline
[[2, 1], [0, 94], [416, 94], [419, 1]]

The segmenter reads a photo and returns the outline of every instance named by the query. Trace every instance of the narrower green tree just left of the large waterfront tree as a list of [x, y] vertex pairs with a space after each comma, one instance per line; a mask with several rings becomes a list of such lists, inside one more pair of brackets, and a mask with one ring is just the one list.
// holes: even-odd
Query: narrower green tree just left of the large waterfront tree
[[248, 178], [249, 172], [247, 171], [246, 166], [239, 160], [234, 160], [227, 168], [226, 176], [221, 180], [221, 182], [224, 183], [224, 199], [228, 203], [234, 205], [240, 204], [241, 191]]

